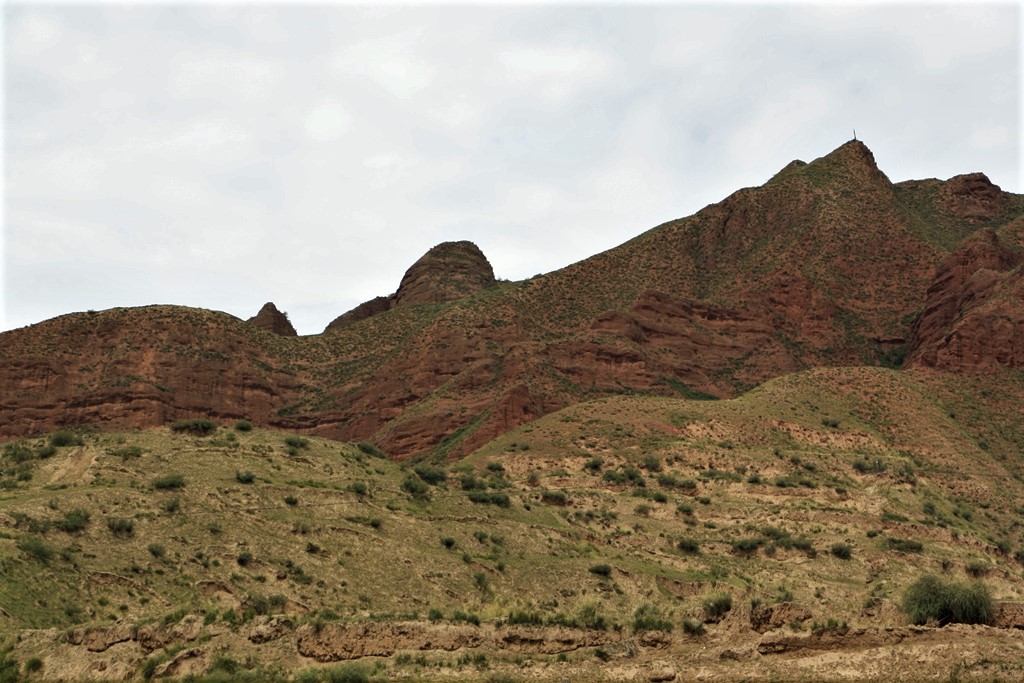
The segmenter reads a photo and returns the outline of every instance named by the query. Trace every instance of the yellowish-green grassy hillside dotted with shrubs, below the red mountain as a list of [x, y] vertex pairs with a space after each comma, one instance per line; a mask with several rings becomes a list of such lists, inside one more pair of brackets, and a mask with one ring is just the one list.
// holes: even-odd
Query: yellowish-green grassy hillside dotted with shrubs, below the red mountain
[[[42, 678], [792, 678], [828, 649], [881, 676], [899, 633], [918, 654], [966, 643], [962, 673], [1020, 675], [1000, 654], [1018, 632], [907, 631], [899, 604], [925, 572], [1020, 599], [1022, 397], [1019, 373], [816, 370], [733, 400], [582, 403], [457, 464], [246, 424], [9, 442], [4, 660]], [[926, 659], [906, 671], [949, 673]]]

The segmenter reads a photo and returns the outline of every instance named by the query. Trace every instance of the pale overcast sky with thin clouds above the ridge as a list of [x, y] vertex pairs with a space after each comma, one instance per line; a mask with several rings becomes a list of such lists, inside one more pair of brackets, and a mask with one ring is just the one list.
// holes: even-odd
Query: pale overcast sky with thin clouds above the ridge
[[173, 303], [300, 334], [441, 242], [521, 280], [853, 136], [1021, 193], [1016, 4], [3, 8], [0, 330]]

